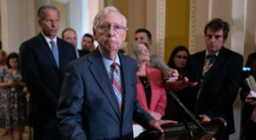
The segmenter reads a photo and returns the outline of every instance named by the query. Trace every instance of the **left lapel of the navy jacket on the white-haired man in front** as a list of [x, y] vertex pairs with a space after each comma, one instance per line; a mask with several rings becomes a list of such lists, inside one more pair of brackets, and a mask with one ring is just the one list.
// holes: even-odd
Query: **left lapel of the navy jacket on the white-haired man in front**
[[116, 115], [121, 119], [121, 113], [119, 110], [119, 104], [117, 98], [113, 92], [113, 87], [108, 76], [108, 72], [102, 61], [102, 55], [97, 48], [88, 58], [91, 61], [89, 66], [90, 72], [95, 77], [99, 87], [102, 88], [103, 94], [108, 98], [108, 102], [113, 107]]

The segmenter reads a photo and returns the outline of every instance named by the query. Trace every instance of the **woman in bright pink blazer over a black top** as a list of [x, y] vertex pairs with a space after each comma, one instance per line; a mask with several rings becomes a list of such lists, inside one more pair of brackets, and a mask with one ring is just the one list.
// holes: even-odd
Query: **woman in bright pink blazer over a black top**
[[137, 98], [142, 108], [155, 120], [165, 115], [166, 88], [160, 70], [148, 67], [149, 50], [146, 42], [131, 44], [131, 58], [137, 60]]

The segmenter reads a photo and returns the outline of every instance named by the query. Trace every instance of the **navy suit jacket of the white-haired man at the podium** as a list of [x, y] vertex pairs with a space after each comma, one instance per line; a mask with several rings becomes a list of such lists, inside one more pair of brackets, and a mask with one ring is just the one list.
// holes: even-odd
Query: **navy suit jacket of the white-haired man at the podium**
[[98, 48], [68, 64], [57, 109], [64, 139], [132, 139], [133, 119], [143, 126], [153, 120], [137, 101], [135, 60], [118, 55], [123, 88], [121, 112]]

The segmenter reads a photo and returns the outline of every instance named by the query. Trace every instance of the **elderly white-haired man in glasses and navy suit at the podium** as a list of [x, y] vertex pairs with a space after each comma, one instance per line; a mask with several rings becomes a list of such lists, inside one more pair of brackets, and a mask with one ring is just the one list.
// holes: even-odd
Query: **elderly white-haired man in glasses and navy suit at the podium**
[[140, 107], [136, 61], [118, 53], [125, 41], [125, 16], [116, 8], [107, 7], [93, 23], [99, 47], [67, 66], [57, 108], [61, 136], [130, 140], [132, 120], [163, 132], [160, 125], [174, 121], [154, 120]]

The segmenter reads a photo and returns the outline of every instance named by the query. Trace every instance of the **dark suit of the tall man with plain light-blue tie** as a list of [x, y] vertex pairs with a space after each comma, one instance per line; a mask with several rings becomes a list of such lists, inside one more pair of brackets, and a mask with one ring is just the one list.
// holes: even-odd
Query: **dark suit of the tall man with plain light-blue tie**
[[29, 120], [32, 126], [56, 126], [55, 109], [67, 63], [76, 59], [75, 48], [57, 38], [60, 69], [48, 43], [40, 33], [20, 45], [20, 70], [30, 96]]

